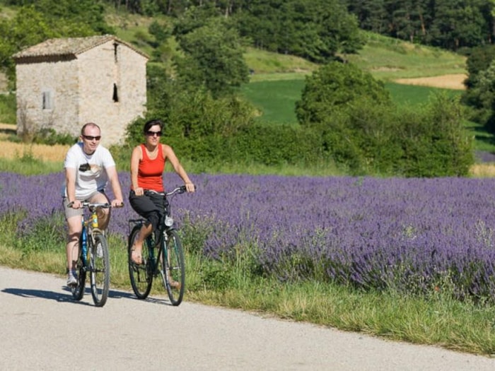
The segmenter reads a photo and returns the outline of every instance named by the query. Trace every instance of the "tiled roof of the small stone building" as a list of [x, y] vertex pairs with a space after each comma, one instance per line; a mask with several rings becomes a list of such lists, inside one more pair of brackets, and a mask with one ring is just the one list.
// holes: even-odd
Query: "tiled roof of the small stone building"
[[148, 56], [136, 49], [127, 42], [118, 39], [114, 35], [100, 35], [100, 36], [88, 36], [88, 37], [69, 37], [60, 39], [48, 39], [40, 44], [33, 45], [27, 49], [22, 50], [13, 55], [14, 59], [21, 59], [26, 57], [54, 57], [54, 56], [66, 56], [77, 55], [86, 52], [93, 47], [98, 47], [109, 40], [115, 40], [120, 44], [127, 45], [127, 47], [134, 50], [134, 52], [141, 54], [148, 58]]

